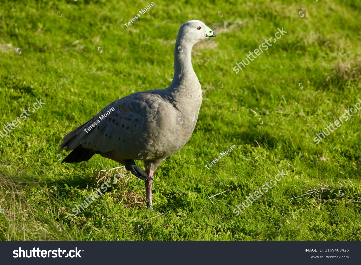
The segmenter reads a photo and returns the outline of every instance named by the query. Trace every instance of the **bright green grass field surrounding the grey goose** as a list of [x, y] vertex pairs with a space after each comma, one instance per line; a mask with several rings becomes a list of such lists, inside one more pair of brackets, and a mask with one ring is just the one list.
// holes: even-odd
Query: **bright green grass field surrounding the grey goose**
[[[1, 4], [0, 129], [45, 105], [0, 138], [0, 240], [361, 240], [361, 111], [313, 140], [361, 98], [361, 1], [156, 1], [124, 26], [148, 2]], [[168, 87], [191, 19], [217, 36], [193, 47], [203, 104], [189, 142], [155, 173], [154, 212], [144, 182], [120, 169], [126, 177], [74, 216], [120, 165], [99, 155], [60, 164], [61, 139], [116, 99]], [[236, 216], [278, 170], [282, 181]]]

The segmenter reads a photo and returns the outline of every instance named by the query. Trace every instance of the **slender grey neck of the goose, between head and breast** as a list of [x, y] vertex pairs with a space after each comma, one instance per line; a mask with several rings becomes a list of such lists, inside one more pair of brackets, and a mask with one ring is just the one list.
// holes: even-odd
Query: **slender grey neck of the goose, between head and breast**
[[192, 66], [192, 47], [192, 44], [177, 38], [174, 47], [174, 77], [171, 86], [179, 87], [183, 84], [199, 83]]

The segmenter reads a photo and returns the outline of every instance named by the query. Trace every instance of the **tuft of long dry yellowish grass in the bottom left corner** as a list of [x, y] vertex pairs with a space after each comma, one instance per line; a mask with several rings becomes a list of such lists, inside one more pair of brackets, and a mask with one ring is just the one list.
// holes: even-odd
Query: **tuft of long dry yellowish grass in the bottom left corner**
[[[43, 206], [36, 207], [40, 202]], [[0, 213], [0, 240], [60, 240], [56, 233], [58, 205], [47, 186], [3, 172], [0, 174], [0, 205], [4, 209]], [[64, 235], [73, 240], [70, 235]]]

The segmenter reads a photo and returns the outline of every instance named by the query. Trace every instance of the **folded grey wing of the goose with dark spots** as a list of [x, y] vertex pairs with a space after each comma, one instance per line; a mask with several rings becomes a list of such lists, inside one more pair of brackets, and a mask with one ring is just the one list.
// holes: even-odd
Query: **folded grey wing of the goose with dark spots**
[[[141, 152], [158, 135], [154, 121], [161, 96], [151, 91], [138, 92], [118, 99], [83, 125], [63, 138], [59, 151], [79, 146], [96, 153], [124, 150], [122, 153]], [[114, 110], [113, 110], [114, 109]], [[110, 111], [111, 110], [111, 111]], [[95, 124], [97, 123], [97, 124]]]

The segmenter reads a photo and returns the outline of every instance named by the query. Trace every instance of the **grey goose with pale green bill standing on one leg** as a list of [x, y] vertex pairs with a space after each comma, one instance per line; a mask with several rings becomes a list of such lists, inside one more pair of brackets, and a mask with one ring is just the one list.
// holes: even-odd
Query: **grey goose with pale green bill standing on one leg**
[[[191, 61], [194, 44], [216, 34], [202, 21], [185, 22], [174, 46], [174, 77], [169, 87], [118, 99], [62, 139], [61, 163], [88, 161], [94, 154], [117, 161], [145, 182], [145, 204], [152, 207], [153, 174], [190, 139], [202, 104], [202, 90]], [[145, 172], [134, 160], [143, 160]]]

